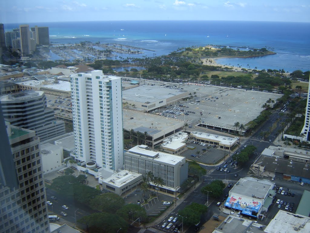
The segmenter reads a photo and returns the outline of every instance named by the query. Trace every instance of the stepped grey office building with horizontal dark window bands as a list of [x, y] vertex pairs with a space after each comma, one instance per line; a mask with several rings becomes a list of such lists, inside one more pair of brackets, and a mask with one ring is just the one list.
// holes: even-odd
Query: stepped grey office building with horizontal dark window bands
[[65, 133], [64, 122], [54, 120], [43, 91], [22, 91], [0, 97], [4, 119], [11, 125], [36, 131], [41, 141]]

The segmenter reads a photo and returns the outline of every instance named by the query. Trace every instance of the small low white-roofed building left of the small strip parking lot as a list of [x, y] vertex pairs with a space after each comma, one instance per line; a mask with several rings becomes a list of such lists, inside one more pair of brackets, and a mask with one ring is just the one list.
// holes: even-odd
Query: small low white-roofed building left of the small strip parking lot
[[162, 151], [170, 154], [182, 153], [186, 149], [188, 134], [184, 132], [177, 133], [163, 140], [160, 145]]

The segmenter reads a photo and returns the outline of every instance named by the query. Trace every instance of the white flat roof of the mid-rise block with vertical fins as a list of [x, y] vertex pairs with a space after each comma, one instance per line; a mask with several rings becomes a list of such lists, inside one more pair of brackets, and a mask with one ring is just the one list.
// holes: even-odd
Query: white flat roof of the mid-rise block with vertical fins
[[[144, 146], [144, 145], [142, 145]], [[141, 148], [140, 145], [136, 145], [135, 147], [129, 149], [126, 153], [131, 153], [139, 156], [144, 156], [147, 158], [151, 158], [153, 160], [156, 160], [157, 162], [163, 162], [171, 165], [175, 165], [182, 160], [185, 161], [185, 157], [172, 155], [169, 153], [163, 153], [159, 151], [152, 151], [145, 148]]]

